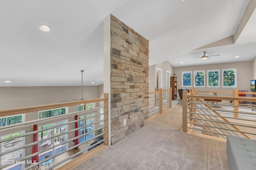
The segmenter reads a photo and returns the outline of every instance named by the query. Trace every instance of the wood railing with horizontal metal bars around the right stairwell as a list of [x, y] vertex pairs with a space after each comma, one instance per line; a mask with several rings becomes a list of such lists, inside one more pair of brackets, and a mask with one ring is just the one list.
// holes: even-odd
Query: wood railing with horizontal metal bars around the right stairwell
[[[218, 95], [205, 95], [217, 93]], [[220, 96], [227, 94], [229, 96]], [[246, 94], [247, 97], [240, 97]], [[196, 91], [182, 94], [182, 131], [215, 137], [256, 138], [256, 98], [253, 92]], [[232, 95], [232, 96], [230, 96]]]

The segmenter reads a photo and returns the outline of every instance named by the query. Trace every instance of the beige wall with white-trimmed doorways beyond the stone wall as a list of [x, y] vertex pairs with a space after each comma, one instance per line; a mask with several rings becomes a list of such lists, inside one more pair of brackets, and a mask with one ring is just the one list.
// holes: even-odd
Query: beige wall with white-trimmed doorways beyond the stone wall
[[156, 68], [162, 69], [162, 84], [164, 86], [162, 87], [163, 89], [167, 89], [169, 87], [166, 87], [166, 71], [170, 71], [170, 76], [173, 76], [173, 67], [169, 63], [169, 61], [164, 61], [159, 64], [154, 64], [149, 67], [149, 76], [148, 76], [148, 81], [149, 81], [149, 92], [154, 92], [154, 89], [156, 87]]

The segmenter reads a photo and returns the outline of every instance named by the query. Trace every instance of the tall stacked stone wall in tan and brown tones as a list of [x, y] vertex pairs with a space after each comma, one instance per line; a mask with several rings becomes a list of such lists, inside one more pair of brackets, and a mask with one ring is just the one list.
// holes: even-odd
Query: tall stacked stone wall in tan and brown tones
[[[148, 40], [111, 15], [111, 144], [148, 123]], [[124, 125], [126, 119], [126, 125]]]

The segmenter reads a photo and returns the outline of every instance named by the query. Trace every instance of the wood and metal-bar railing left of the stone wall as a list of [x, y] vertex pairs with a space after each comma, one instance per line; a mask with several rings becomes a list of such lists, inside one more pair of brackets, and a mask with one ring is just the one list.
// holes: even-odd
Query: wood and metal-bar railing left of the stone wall
[[[27, 114], [39, 114], [38, 111], [44, 111], [44, 110], [49, 110], [49, 109], [57, 109], [61, 107], [76, 107], [77, 105], [80, 104], [89, 104], [89, 103], [97, 103], [100, 107], [96, 107], [94, 109], [88, 109], [84, 111], [76, 111], [73, 113], [66, 113], [63, 115], [58, 115], [54, 117], [48, 117], [48, 118], [43, 118], [43, 119], [35, 119], [33, 121], [25, 121], [23, 123], [17, 123], [14, 125], [8, 125], [8, 126], [3, 126], [0, 127], [0, 135], [3, 136], [8, 136], [10, 134], [14, 134], [17, 132], [21, 132], [21, 135], [14, 136], [14, 137], [8, 137], [7, 139], [1, 138], [0, 139], [0, 144], [1, 147], [0, 149], [0, 158], [1, 164], [0, 164], [0, 169], [8, 169], [8, 168], [15, 168], [15, 166], [20, 166], [24, 170], [28, 170], [30, 168], [33, 168], [35, 166], [40, 167], [42, 163], [49, 161], [51, 159], [54, 159], [55, 161], [53, 165], [47, 166], [47, 169], [65, 169], [65, 167], [70, 167], [70, 166], [62, 166], [65, 164], [67, 161], [70, 159], [76, 158], [78, 155], [83, 156], [84, 154], [91, 154], [94, 152], [94, 149], [90, 150], [89, 152], [86, 152], [88, 149], [94, 147], [95, 145], [98, 145], [100, 143], [104, 143], [104, 145], [108, 145], [108, 94], [104, 94], [104, 98], [98, 98], [98, 99], [91, 99], [91, 100], [81, 100], [81, 101], [74, 101], [74, 102], [65, 102], [65, 103], [58, 103], [58, 104], [49, 104], [49, 105], [42, 105], [42, 106], [32, 106], [32, 107], [23, 107], [23, 108], [17, 108], [17, 109], [8, 109], [8, 110], [1, 110], [0, 111], [0, 117], [6, 117], [6, 116], [13, 116], [17, 114], [24, 114], [25, 116]], [[100, 113], [100, 109], [104, 109], [104, 113]], [[94, 114], [92, 116], [92, 114]], [[75, 119], [75, 117], [81, 117], [82, 115], [91, 115], [91, 116], [84, 116], [82, 119]], [[104, 116], [104, 119], [100, 119], [100, 117]], [[79, 128], [74, 128], [76, 122], [81, 121], [81, 120], [86, 120], [90, 118], [95, 118], [98, 119], [98, 121], [94, 121], [94, 123], [88, 124], [88, 125], [83, 125], [82, 127], [80, 126]], [[59, 123], [62, 122], [62, 123]], [[104, 122], [103, 125], [101, 125], [101, 122]], [[33, 131], [33, 126], [37, 125], [38, 127], [43, 127], [44, 125], [49, 125], [52, 124], [53, 126], [47, 127], [45, 129], [40, 129]], [[88, 126], [94, 125], [94, 129], [92, 131], [89, 131], [87, 133], [83, 133], [80, 135], [75, 135], [76, 132], [78, 132], [78, 129], [81, 128], [86, 128]], [[54, 132], [55, 128], [58, 128], [60, 126], [66, 126], [66, 130], [62, 131], [62, 133], [56, 133], [55, 135], [52, 135], [50, 137], [39, 139], [38, 141], [33, 142], [33, 135], [34, 134], [43, 134], [43, 131], [52, 131]], [[98, 134], [98, 135], [93, 135], [92, 138], [86, 139], [87, 135], [94, 134], [96, 131], [99, 129], [104, 128], [103, 133]], [[78, 133], [77, 133], [78, 134]], [[63, 138], [63, 135], [66, 135], [66, 138]], [[92, 141], [93, 139], [96, 139], [97, 137], [100, 137], [103, 135], [103, 139], [96, 144], [87, 147], [88, 142]], [[79, 138], [84, 137], [84, 141], [79, 142], [74, 144], [74, 141], [78, 141]], [[15, 143], [18, 142], [17, 138], [22, 142], [20, 142], [20, 145], [15, 145]], [[62, 138], [65, 140], [62, 140], [61, 143], [56, 143], [52, 144], [51, 146], [46, 145], [45, 147], [41, 147], [42, 150], [39, 150], [38, 152], [32, 153], [32, 147], [41, 145], [42, 143], [45, 143], [48, 140], [54, 140], [57, 138]], [[25, 143], [25, 142], [26, 143]], [[9, 143], [12, 145], [12, 148], [5, 149], [6, 143]], [[71, 156], [64, 156], [64, 155], [69, 155], [65, 154], [68, 153], [70, 150], [75, 149], [81, 145], [86, 145], [86, 147], [82, 147], [85, 149], [80, 149], [78, 152]], [[65, 146], [65, 147], [63, 147]], [[51, 155], [49, 158], [43, 159], [41, 161], [36, 161], [32, 162], [32, 157], [36, 155], [42, 155], [45, 154], [49, 151], [55, 152], [56, 149], [62, 148], [57, 154]], [[64, 149], [63, 149], [64, 148]], [[100, 148], [100, 147], [98, 147]], [[23, 152], [22, 150], [26, 150], [26, 152]], [[96, 150], [96, 149], [95, 149]], [[8, 155], [12, 155], [14, 152], [19, 152], [18, 157], [13, 158], [12, 156], [8, 157]], [[98, 151], [97, 151], [98, 152]], [[60, 157], [58, 157], [60, 156]], [[6, 159], [5, 159], [6, 158]], [[57, 158], [57, 159], [56, 159]], [[57, 161], [61, 160], [61, 161]], [[84, 161], [84, 158], [82, 158]], [[72, 162], [72, 161], [71, 161]], [[70, 162], [68, 162], [69, 164]], [[22, 166], [21, 166], [22, 165]], [[78, 166], [76, 162], [76, 166]], [[74, 165], [72, 165], [74, 168]]]

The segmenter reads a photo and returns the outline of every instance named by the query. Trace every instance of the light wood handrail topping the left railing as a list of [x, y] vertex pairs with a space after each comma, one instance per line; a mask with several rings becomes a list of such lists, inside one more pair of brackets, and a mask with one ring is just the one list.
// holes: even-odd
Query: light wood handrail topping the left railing
[[0, 117], [28, 113], [32, 111], [42, 111], [42, 110], [55, 109], [60, 107], [75, 106], [79, 104], [104, 102], [106, 100], [107, 100], [106, 98], [98, 98], [98, 99], [80, 100], [80, 101], [74, 101], [74, 102], [63, 102], [63, 103], [57, 103], [57, 104], [47, 104], [47, 105], [40, 105], [40, 106], [21, 107], [17, 109], [6, 109], [6, 110], [0, 111]]

